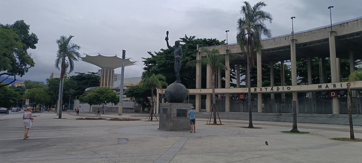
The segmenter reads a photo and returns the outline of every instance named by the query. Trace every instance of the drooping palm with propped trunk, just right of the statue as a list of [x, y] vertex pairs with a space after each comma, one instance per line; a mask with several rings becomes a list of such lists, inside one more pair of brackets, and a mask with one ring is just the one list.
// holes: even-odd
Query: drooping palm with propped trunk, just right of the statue
[[202, 49], [205, 57], [202, 57], [198, 60], [191, 60], [187, 63], [188, 66], [196, 66], [197, 64], [201, 66], [209, 66], [211, 70], [211, 88], [212, 88], [212, 106], [211, 111], [214, 112], [214, 124], [216, 124], [216, 99], [215, 99], [215, 75], [216, 71], [219, 69], [222, 71], [230, 71], [227, 70], [227, 67], [224, 65], [224, 62], [228, 62], [229, 59], [240, 59], [241, 56], [237, 54], [228, 53], [226, 55], [220, 55], [220, 51], [218, 49]]

